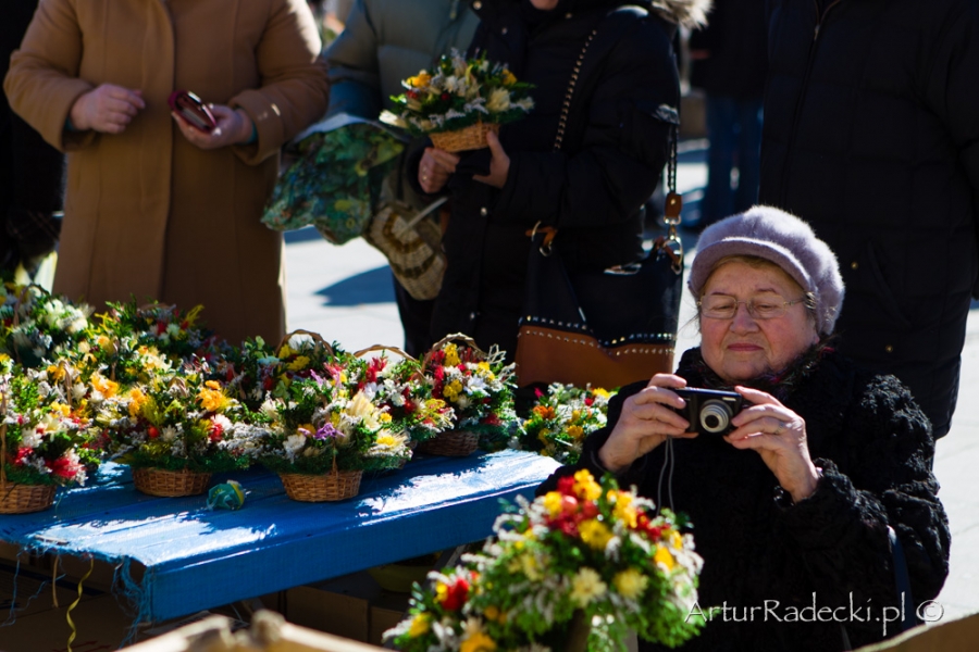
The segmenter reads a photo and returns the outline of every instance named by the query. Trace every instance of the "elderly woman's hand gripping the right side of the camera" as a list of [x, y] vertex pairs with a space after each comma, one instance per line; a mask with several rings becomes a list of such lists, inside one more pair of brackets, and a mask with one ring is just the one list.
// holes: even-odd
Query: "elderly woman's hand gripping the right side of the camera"
[[754, 405], [731, 419], [735, 429], [724, 439], [736, 449], [758, 451], [793, 501], [813, 496], [819, 473], [809, 459], [806, 422], [764, 391], [747, 387], [734, 389]]

